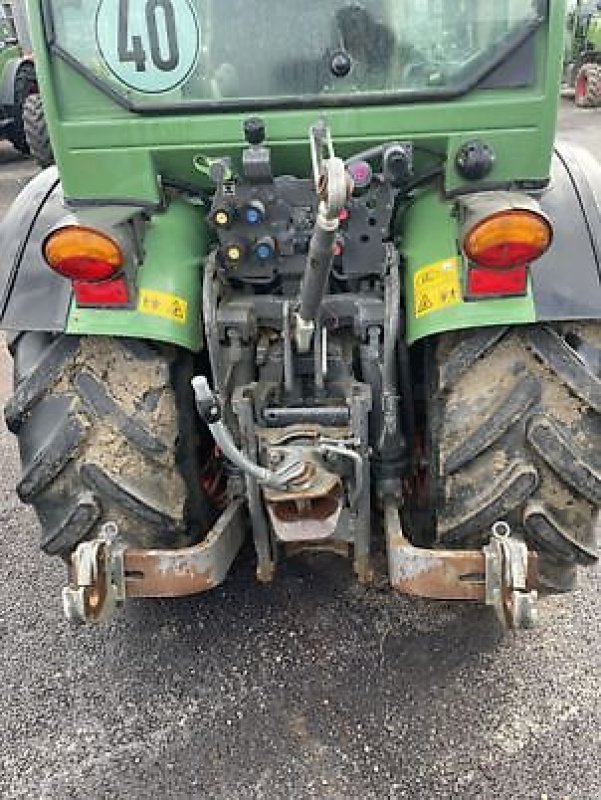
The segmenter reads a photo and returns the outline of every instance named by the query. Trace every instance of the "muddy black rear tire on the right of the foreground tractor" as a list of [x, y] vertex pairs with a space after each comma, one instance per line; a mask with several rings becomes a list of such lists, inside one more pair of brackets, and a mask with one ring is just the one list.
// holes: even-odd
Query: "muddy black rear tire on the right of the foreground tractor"
[[601, 506], [601, 325], [440, 336], [430, 356], [433, 538], [481, 546], [506, 520], [540, 552], [541, 584], [596, 561]]

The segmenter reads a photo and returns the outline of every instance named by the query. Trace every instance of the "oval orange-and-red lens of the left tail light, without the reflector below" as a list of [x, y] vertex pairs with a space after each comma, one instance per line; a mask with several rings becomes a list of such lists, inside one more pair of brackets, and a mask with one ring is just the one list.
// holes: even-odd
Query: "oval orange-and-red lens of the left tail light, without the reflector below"
[[51, 233], [43, 247], [49, 266], [65, 278], [101, 281], [123, 266], [123, 253], [109, 236], [69, 225]]

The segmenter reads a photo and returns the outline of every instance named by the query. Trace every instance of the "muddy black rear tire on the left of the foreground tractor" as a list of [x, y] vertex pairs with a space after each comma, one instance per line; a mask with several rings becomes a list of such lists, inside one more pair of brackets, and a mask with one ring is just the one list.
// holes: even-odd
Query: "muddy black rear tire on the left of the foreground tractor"
[[191, 356], [111, 337], [21, 333], [11, 343], [21, 500], [41, 547], [68, 557], [107, 521], [135, 547], [198, 541], [211, 509], [200, 488]]

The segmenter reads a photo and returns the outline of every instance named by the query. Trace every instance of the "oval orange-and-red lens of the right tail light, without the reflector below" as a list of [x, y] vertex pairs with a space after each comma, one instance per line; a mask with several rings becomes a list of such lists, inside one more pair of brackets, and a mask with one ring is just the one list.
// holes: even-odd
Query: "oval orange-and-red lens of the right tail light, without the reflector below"
[[534, 211], [508, 209], [478, 222], [463, 249], [470, 261], [489, 269], [508, 269], [540, 258], [553, 238], [551, 225]]

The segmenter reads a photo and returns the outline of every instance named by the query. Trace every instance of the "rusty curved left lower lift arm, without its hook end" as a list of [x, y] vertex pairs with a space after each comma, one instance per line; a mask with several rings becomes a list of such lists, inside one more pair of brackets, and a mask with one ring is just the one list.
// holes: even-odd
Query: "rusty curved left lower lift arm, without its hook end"
[[218, 586], [242, 546], [245, 517], [245, 502], [239, 498], [200, 544], [179, 550], [125, 550], [127, 597], [181, 597]]

